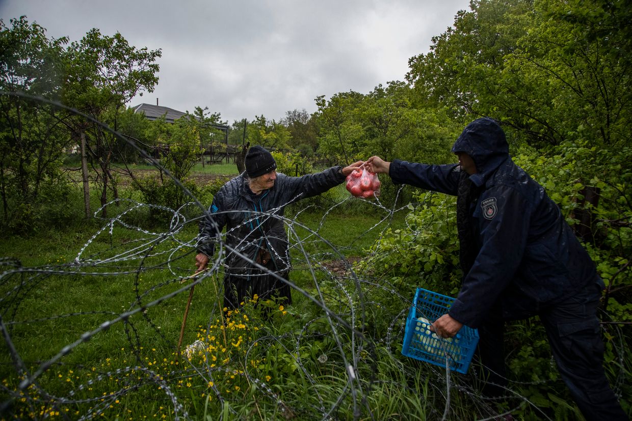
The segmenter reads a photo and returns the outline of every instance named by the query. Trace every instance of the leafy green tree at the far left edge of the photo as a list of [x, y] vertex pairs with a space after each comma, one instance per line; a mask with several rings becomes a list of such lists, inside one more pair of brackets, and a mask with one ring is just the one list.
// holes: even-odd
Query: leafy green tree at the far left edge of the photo
[[61, 164], [70, 142], [67, 114], [46, 102], [58, 100], [66, 38], [48, 39], [44, 28], [25, 16], [7, 27], [0, 20], [0, 193], [3, 222], [28, 230], [44, 205], [42, 188], [64, 189]]

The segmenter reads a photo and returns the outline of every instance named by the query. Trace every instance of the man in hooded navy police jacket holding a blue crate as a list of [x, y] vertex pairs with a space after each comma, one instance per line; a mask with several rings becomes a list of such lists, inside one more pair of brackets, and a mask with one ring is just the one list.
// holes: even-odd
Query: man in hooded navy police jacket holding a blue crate
[[[604, 283], [544, 188], [513, 163], [492, 119], [465, 127], [452, 151], [459, 163], [367, 160], [394, 182], [457, 196], [463, 285], [438, 335], [478, 328], [479, 357], [496, 395], [507, 384], [503, 319], [540, 316], [562, 379], [587, 420], [627, 420], [605, 377], [597, 304]], [[492, 387], [490, 387], [492, 386]], [[495, 386], [495, 388], [493, 387]]]

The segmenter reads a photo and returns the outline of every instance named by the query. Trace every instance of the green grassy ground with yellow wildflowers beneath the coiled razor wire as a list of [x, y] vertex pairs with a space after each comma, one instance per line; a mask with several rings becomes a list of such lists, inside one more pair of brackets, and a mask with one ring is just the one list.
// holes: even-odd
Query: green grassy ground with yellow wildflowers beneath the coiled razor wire
[[[348, 198], [338, 186], [322, 200], [288, 206], [290, 280], [299, 288], [293, 304], [246, 302], [238, 312], [222, 311], [221, 264], [190, 278], [195, 218], [149, 225], [147, 211], [132, 210], [130, 202], [111, 208], [110, 216], [130, 210], [121, 220], [0, 238], [0, 419], [460, 421], [506, 411], [525, 420], [578, 414], [566, 403], [550, 356], [535, 355], [545, 338], [533, 335], [537, 326], [529, 323], [512, 329], [537, 340], [513, 344], [520, 355], [509, 355], [512, 371], [524, 372], [528, 382], [516, 383], [504, 402], [480, 398], [473, 374], [448, 375], [403, 357], [415, 282], [374, 278], [374, 266], [349, 269], [358, 268], [353, 263], [384, 230], [404, 226], [407, 210], [392, 214]], [[180, 349], [201, 345], [178, 355], [186, 308]], [[533, 361], [547, 370], [534, 369]]]

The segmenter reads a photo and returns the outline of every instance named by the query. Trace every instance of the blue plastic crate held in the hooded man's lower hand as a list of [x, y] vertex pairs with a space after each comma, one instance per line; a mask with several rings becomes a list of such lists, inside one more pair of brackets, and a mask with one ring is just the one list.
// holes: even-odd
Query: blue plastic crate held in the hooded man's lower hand
[[465, 374], [478, 344], [477, 329], [463, 326], [454, 338], [441, 338], [430, 331], [429, 324], [443, 316], [454, 302], [452, 297], [417, 288], [408, 311], [401, 353], [406, 357], [429, 362]]

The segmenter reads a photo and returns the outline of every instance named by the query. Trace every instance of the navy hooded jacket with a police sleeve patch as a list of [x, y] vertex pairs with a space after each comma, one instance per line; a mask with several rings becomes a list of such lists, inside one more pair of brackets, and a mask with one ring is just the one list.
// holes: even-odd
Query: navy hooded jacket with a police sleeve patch
[[[477, 328], [497, 304], [507, 318], [532, 316], [591, 283], [603, 288], [595, 264], [557, 205], [509, 157], [494, 120], [468, 124], [452, 151], [473, 158], [477, 174], [469, 179], [478, 194], [468, 205], [465, 224], [474, 234], [469, 245], [474, 258], [450, 316]], [[461, 169], [394, 160], [389, 175], [394, 182], [456, 196]]]

